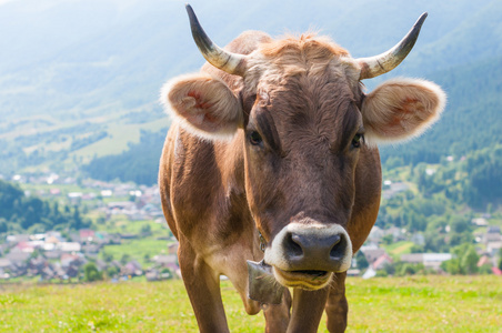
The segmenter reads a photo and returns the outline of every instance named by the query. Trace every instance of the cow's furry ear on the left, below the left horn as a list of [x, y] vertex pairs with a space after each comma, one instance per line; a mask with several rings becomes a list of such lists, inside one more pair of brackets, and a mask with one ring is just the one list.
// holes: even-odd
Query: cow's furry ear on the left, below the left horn
[[178, 77], [164, 84], [161, 102], [191, 133], [209, 139], [232, 138], [243, 123], [239, 100], [228, 85], [207, 74]]

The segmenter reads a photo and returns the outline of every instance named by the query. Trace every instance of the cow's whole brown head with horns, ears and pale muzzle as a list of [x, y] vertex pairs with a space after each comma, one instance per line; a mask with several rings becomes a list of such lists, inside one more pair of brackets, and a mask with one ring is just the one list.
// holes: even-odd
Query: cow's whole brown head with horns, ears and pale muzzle
[[444, 108], [445, 95], [432, 82], [394, 79], [369, 94], [360, 83], [405, 58], [425, 16], [390, 51], [353, 59], [315, 36], [262, 38], [250, 54], [231, 53], [188, 11], [204, 58], [242, 80], [229, 87], [210, 74], [181, 77], [162, 99], [201, 138], [243, 131], [247, 198], [267, 241], [265, 262], [283, 285], [323, 287], [351, 263], [347, 224], [360, 155], [379, 142], [419, 135]]

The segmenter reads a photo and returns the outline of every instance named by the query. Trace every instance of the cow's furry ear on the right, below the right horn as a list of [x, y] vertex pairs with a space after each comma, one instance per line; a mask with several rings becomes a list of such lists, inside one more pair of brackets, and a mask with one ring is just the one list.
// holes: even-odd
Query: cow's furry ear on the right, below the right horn
[[361, 108], [369, 143], [396, 143], [423, 133], [440, 117], [446, 94], [435, 83], [393, 79], [368, 94]]

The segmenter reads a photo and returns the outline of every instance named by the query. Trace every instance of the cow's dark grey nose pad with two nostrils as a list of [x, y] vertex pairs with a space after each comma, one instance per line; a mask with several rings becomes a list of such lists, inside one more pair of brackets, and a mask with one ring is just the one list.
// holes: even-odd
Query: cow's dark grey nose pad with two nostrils
[[335, 272], [349, 254], [349, 242], [347, 233], [324, 234], [305, 229], [289, 232], [282, 246], [290, 270]]

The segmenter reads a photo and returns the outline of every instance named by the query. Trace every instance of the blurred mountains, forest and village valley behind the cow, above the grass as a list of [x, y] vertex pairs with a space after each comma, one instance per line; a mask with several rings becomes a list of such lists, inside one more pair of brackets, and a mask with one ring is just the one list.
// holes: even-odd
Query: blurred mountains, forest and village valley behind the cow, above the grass
[[[381, 149], [382, 208], [353, 274], [500, 273], [502, 1], [191, 4], [220, 46], [243, 30], [319, 30], [353, 57], [393, 47], [428, 11], [406, 60], [364, 84], [428, 79], [448, 107], [421, 138]], [[100, 279], [175, 275], [155, 185], [170, 125], [158, 97], [202, 63], [184, 1], [0, 1], [2, 279], [92, 279], [88, 262]]]

